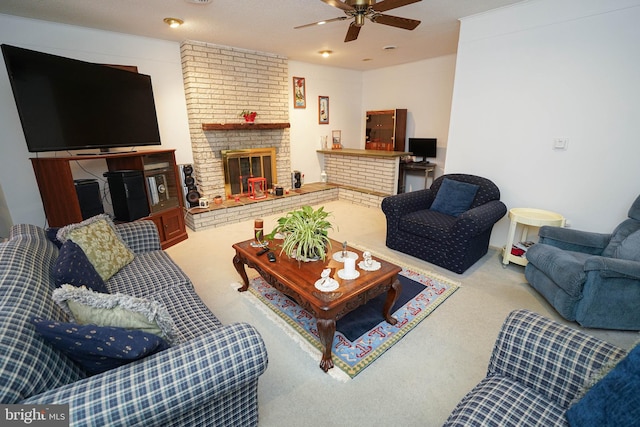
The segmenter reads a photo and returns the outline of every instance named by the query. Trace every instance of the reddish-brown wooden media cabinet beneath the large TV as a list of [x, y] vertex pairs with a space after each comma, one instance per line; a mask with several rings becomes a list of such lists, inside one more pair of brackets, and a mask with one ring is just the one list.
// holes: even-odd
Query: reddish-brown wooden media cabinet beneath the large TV
[[162, 247], [168, 248], [187, 238], [175, 150], [32, 158], [42, 204], [51, 227], [82, 221], [80, 203], [71, 172], [71, 162], [104, 159], [110, 172], [140, 170], [145, 176], [149, 217], [158, 227]]

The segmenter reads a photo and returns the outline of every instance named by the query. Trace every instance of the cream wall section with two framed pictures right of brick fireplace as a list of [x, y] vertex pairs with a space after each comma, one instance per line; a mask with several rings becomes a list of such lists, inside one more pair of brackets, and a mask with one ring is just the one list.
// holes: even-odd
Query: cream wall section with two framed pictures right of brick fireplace
[[[305, 79], [307, 108], [293, 108], [293, 76]], [[306, 182], [319, 182], [321, 136], [331, 143], [332, 131], [340, 130], [345, 148], [364, 148], [362, 72], [289, 61], [289, 85], [291, 168], [303, 172]], [[318, 124], [319, 96], [329, 97], [329, 124]]]

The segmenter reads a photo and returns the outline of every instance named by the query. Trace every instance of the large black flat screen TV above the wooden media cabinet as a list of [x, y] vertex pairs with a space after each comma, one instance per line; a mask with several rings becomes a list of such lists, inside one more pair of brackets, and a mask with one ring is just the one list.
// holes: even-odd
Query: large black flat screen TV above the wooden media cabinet
[[159, 145], [151, 77], [2, 45], [30, 152]]

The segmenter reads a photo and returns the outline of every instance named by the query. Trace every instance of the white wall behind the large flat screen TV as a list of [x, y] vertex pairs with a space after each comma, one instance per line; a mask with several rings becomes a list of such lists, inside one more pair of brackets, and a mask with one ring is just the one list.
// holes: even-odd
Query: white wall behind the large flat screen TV
[[[7, 15], [0, 15], [0, 42], [84, 61], [136, 65], [152, 79], [162, 139], [162, 147], [155, 148], [175, 148], [179, 163], [193, 161], [178, 43]], [[0, 62], [0, 184], [6, 199], [0, 211], [8, 209], [14, 223], [44, 226], [44, 210], [29, 161], [35, 153], [27, 151], [4, 61]], [[97, 173], [97, 169], [106, 169], [95, 163], [89, 168], [96, 168]], [[78, 172], [78, 178], [86, 176], [80, 175], [83, 173]]]

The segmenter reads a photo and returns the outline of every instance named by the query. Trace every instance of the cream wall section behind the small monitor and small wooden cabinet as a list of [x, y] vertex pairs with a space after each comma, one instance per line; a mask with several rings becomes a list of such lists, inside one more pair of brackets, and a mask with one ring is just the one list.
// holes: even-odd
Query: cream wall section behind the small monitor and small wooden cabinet
[[[363, 77], [362, 128], [366, 111], [406, 108], [407, 138], [438, 138], [436, 176], [442, 175], [447, 155], [455, 67], [455, 55], [447, 55], [366, 71]], [[364, 148], [364, 136], [359, 148]], [[424, 188], [423, 175], [408, 175], [406, 184], [407, 191]]]

